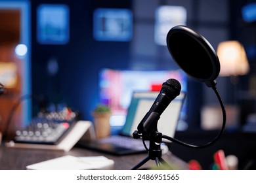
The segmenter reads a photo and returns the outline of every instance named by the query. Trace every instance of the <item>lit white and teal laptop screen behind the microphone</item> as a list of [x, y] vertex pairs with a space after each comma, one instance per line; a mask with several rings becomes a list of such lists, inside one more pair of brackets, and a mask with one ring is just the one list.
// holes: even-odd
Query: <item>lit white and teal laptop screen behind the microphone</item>
[[[146, 115], [152, 104], [158, 97], [159, 92], [134, 92], [128, 108], [125, 125], [121, 130], [122, 135], [132, 136], [133, 132]], [[181, 92], [167, 108], [163, 111], [158, 120], [158, 131], [163, 135], [174, 137], [179, 116], [181, 114], [182, 104], [184, 103], [185, 93]]]

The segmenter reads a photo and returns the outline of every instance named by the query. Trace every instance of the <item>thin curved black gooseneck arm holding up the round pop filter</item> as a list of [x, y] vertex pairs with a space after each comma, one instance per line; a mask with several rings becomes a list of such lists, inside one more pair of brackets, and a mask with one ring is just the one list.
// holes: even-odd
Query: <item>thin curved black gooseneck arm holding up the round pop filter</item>
[[215, 92], [215, 94], [217, 95], [217, 98], [219, 100], [219, 103], [221, 105], [221, 109], [223, 111], [223, 125], [221, 127], [221, 130], [219, 131], [218, 135], [215, 137], [215, 139], [213, 139], [213, 141], [210, 141], [208, 142], [207, 144], [203, 144], [203, 145], [193, 145], [193, 144], [188, 144], [186, 142], [182, 142], [182, 141], [179, 141], [177, 139], [174, 139], [172, 137], [169, 137], [167, 135], [162, 135], [162, 138], [163, 139], [167, 139], [169, 141], [172, 141], [172, 142], [176, 142], [177, 144], [180, 144], [182, 146], [187, 146], [187, 147], [190, 147], [190, 148], [205, 148], [207, 146], [211, 146], [212, 144], [214, 144], [215, 142], [219, 141], [219, 139], [221, 139], [221, 135], [223, 135], [223, 132], [224, 132], [224, 128], [225, 128], [225, 125], [226, 125], [226, 110], [224, 108], [224, 104], [223, 104], [223, 101], [221, 100], [221, 96], [219, 95], [219, 92], [217, 91], [217, 88], [215, 86], [212, 86], [211, 88], [213, 88], [213, 91]]

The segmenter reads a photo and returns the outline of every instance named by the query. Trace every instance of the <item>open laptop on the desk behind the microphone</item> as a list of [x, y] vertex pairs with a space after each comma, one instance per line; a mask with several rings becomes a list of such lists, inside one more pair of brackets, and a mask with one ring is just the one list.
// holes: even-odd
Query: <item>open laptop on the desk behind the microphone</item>
[[[116, 156], [146, 153], [142, 139], [133, 139], [133, 132], [137, 130], [142, 118], [152, 107], [159, 92], [133, 92], [131, 103], [127, 110], [125, 124], [117, 135], [110, 135], [103, 139], [93, 141], [79, 141], [77, 144], [83, 148], [96, 150]], [[158, 131], [163, 135], [174, 137], [185, 93], [181, 92], [163, 111], [158, 120]], [[149, 141], [145, 141], [148, 146]], [[163, 139], [165, 142], [165, 139]], [[166, 142], [169, 142], [166, 140]]]

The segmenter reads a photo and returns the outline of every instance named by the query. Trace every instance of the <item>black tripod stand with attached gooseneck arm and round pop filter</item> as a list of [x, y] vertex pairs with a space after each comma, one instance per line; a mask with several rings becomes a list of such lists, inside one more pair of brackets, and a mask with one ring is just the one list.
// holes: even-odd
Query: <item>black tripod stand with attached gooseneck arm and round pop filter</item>
[[[217, 76], [219, 76], [221, 66], [219, 58], [211, 44], [209, 44], [202, 35], [196, 33], [196, 31], [193, 31], [184, 25], [178, 25], [170, 29], [167, 33], [167, 48], [174, 61], [188, 76], [199, 82], [204, 82], [207, 87], [211, 87], [213, 89], [217, 99], [219, 100], [219, 104], [221, 105], [223, 112], [223, 124], [219, 133], [212, 141], [202, 145], [188, 144], [158, 132], [157, 122], [160, 119], [160, 115], [152, 112], [148, 118], [150, 118], [153, 123], [144, 123], [147, 125], [143, 125], [143, 127], [138, 126], [138, 131], [133, 133], [133, 138], [135, 139], [142, 137], [146, 150], [148, 150], [148, 148], [144, 141], [150, 141], [148, 157], [140, 161], [140, 163], [135, 165], [132, 169], [139, 169], [139, 167], [150, 159], [155, 160], [158, 167], [160, 167], [160, 163], [165, 163], [163, 158], [161, 158], [160, 144], [162, 139], [167, 139], [190, 148], [205, 148], [219, 141], [224, 132], [224, 127], [226, 125], [226, 110], [221, 96], [217, 91], [217, 82], [215, 80]], [[142, 121], [143, 120], [144, 119], [142, 119]], [[165, 166], [169, 167], [167, 163], [165, 163]]]

